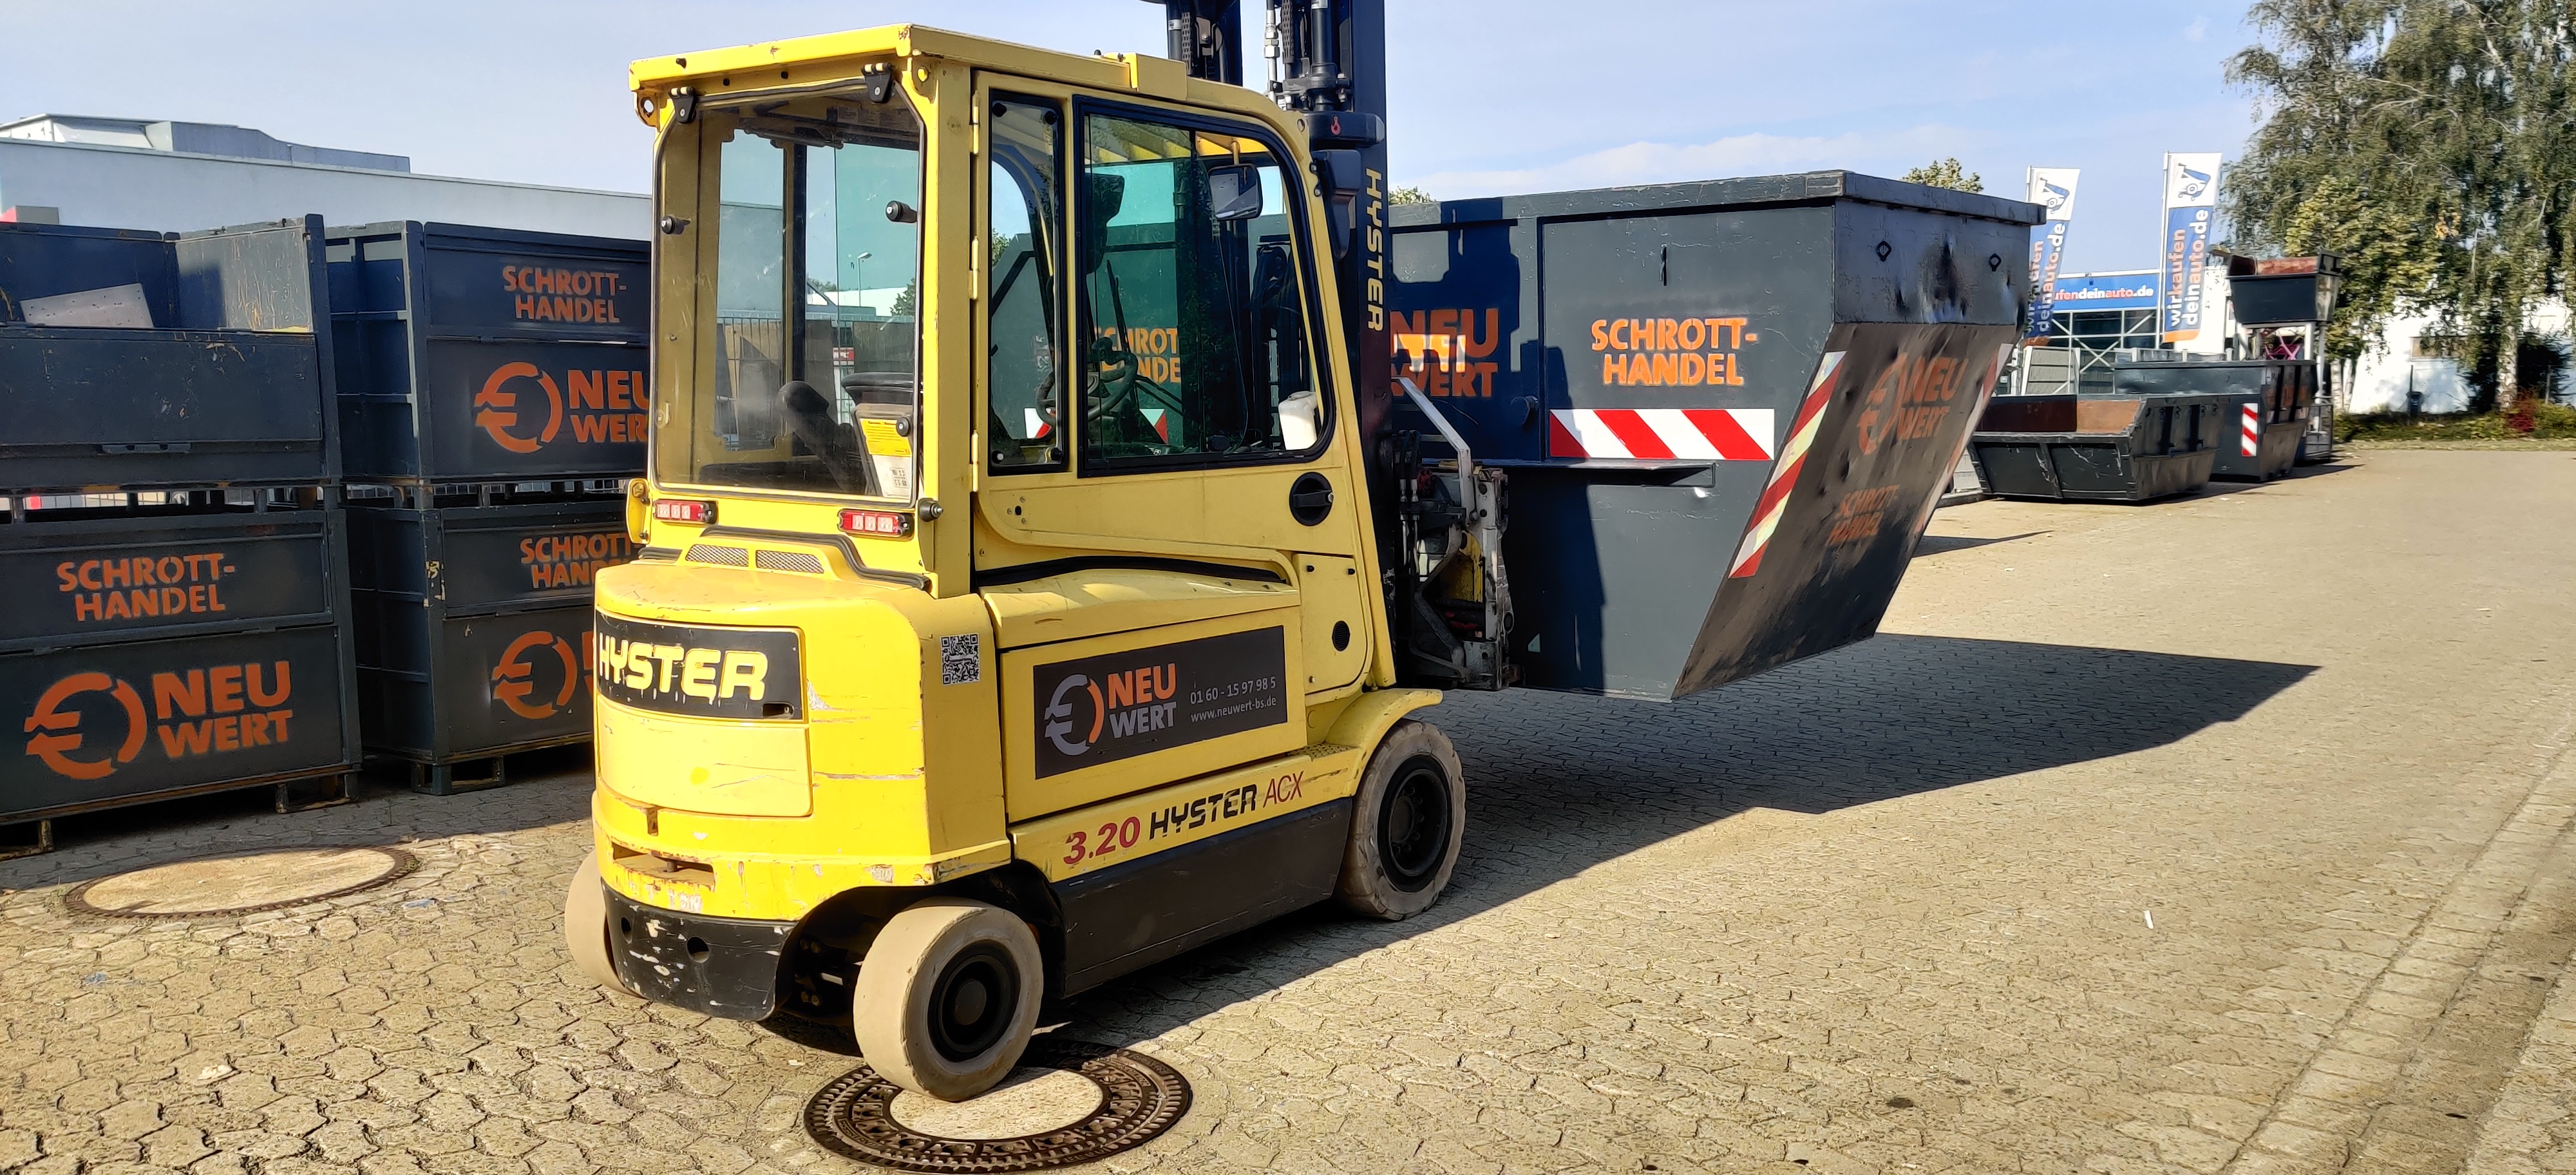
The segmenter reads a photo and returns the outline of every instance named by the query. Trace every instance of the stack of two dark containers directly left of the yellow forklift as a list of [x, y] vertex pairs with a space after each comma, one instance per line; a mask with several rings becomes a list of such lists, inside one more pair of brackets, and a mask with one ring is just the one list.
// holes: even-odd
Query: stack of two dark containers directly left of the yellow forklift
[[590, 740], [590, 582], [634, 557], [649, 273], [639, 240], [330, 229], [361, 727], [422, 791]]

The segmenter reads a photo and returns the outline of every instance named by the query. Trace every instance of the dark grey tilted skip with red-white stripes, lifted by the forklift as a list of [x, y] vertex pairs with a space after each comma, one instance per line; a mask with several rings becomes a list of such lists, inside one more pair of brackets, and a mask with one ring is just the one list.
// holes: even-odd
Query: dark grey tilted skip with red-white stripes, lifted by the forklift
[[[1507, 469], [1522, 685], [1674, 698], [1870, 636], [2040, 209], [1852, 173], [1388, 209], [1394, 376]], [[1363, 428], [1432, 428], [1368, 389]]]

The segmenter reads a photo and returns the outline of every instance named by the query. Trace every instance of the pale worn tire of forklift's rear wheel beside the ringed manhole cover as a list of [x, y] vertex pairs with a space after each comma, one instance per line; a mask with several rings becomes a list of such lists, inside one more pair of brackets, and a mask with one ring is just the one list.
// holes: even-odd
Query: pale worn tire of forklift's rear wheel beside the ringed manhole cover
[[[953, 1062], [930, 1036], [930, 1000], [940, 971], [976, 943], [999, 946], [1020, 971], [1020, 1000], [1002, 1036]], [[868, 1067], [894, 1085], [938, 1100], [966, 1100], [1010, 1077], [1038, 1031], [1046, 961], [1038, 935], [1010, 910], [963, 897], [933, 897], [894, 915], [858, 966], [850, 1036]]]

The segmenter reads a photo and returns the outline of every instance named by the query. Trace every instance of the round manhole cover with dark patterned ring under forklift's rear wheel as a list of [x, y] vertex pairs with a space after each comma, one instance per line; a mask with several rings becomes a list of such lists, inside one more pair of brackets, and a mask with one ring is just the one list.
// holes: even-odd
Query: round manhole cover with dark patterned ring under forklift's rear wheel
[[860, 1064], [806, 1103], [806, 1134], [878, 1167], [1002, 1172], [1105, 1160], [1182, 1113], [1190, 1082], [1170, 1064], [1041, 1036], [1010, 1082], [963, 1103], [907, 1093]]

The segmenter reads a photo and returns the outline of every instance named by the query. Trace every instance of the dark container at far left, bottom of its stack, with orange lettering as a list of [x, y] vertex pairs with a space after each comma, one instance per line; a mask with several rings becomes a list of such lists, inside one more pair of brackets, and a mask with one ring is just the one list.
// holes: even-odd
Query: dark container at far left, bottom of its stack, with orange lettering
[[0, 721], [28, 742], [0, 765], [0, 822], [345, 783], [358, 711], [340, 510], [13, 518], [0, 526], [0, 585], [18, 600], [0, 613]]

